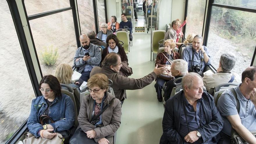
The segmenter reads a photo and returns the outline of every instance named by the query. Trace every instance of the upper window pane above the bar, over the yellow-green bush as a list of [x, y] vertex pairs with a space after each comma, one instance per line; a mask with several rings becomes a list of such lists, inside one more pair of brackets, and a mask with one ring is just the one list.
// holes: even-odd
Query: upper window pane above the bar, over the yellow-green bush
[[28, 16], [38, 13], [44, 13], [51, 10], [70, 7], [69, 0], [54, 0], [54, 1], [37, 1], [25, 0], [24, 1]]

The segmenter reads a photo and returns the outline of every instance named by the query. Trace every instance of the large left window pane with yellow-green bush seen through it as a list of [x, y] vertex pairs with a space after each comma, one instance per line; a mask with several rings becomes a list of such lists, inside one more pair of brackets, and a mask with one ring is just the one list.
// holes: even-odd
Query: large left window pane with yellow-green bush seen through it
[[73, 65], [77, 49], [72, 10], [29, 21], [42, 74], [53, 74], [61, 63]]

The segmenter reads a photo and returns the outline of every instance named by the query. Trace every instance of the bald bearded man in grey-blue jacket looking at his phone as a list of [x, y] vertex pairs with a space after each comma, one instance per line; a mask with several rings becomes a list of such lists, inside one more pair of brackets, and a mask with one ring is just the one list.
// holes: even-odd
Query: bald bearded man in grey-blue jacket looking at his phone
[[88, 81], [93, 67], [99, 66], [100, 64], [100, 47], [90, 43], [90, 39], [86, 34], [80, 35], [79, 40], [81, 42], [81, 47], [76, 50], [74, 65], [78, 68], [77, 72], [82, 74], [81, 79], [83, 81]]

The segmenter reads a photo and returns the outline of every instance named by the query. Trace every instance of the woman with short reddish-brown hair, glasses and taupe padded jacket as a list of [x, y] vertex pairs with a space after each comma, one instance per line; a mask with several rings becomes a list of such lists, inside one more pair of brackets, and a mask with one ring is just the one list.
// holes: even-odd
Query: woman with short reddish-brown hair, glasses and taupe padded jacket
[[105, 74], [95, 74], [88, 80], [90, 94], [83, 97], [78, 115], [80, 128], [70, 144], [113, 144], [113, 136], [121, 124], [121, 104], [108, 93], [108, 84]]

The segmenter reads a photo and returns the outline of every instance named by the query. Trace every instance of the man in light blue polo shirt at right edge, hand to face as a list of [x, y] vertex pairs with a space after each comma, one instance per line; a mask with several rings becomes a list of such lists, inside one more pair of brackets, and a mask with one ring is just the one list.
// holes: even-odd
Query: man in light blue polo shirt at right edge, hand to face
[[[231, 90], [226, 90], [218, 99], [217, 107], [224, 121], [219, 144], [231, 143], [231, 129], [248, 143], [256, 143], [256, 138], [250, 133], [256, 130], [256, 66], [248, 67], [242, 73], [242, 83]], [[237, 111], [239, 102], [239, 111]]]

